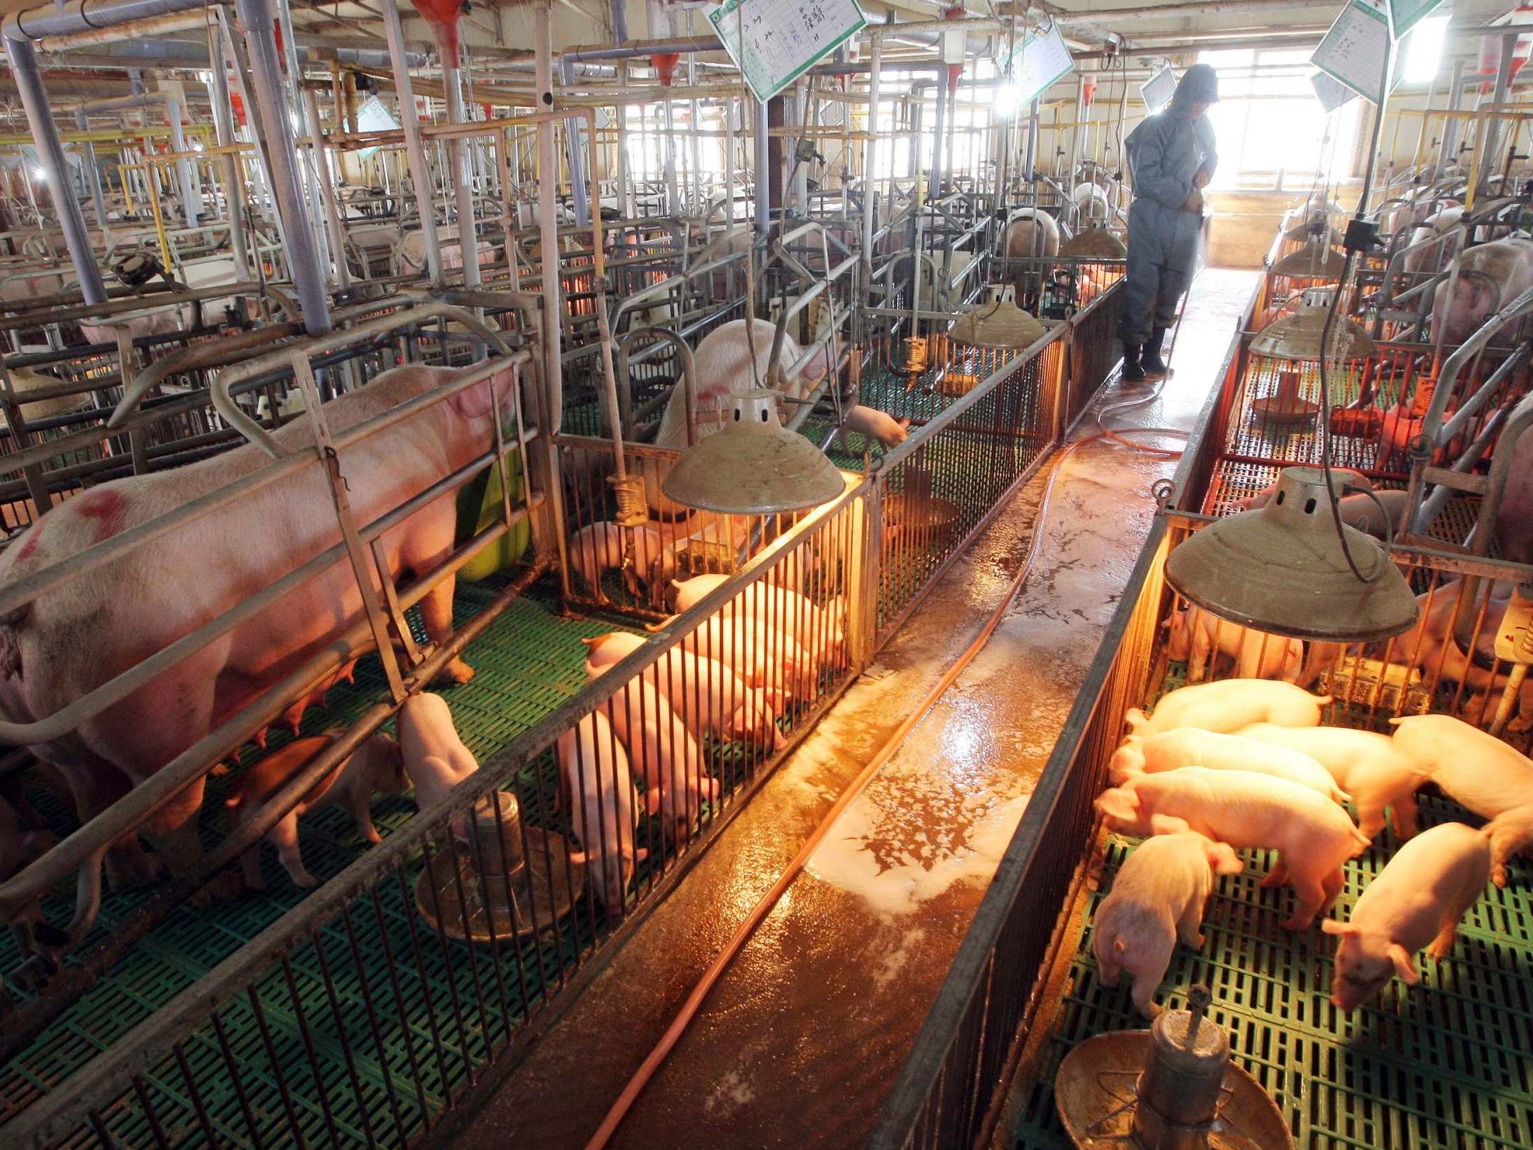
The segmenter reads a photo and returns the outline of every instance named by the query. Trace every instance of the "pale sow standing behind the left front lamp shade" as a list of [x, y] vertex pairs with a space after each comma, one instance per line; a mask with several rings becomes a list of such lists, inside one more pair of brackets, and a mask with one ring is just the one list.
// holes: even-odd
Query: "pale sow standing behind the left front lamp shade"
[[[773, 336], [776, 328], [765, 319], [754, 320], [750, 339], [754, 339], [754, 356], [747, 337], [744, 319], [734, 319], [710, 331], [693, 354], [693, 426], [698, 439], [705, 439], [724, 426], [734, 406], [734, 397], [757, 386], [766, 386], [766, 370], [771, 365]], [[806, 397], [829, 373], [829, 350], [809, 359], [796, 374], [788, 376], [803, 348], [783, 336], [777, 366], [785, 373], [780, 388], [791, 399]], [[655, 435], [655, 446], [687, 446], [687, 394], [685, 388], [671, 388], [665, 400], [665, 412]], [[661, 481], [668, 468], [645, 468], [644, 495], [659, 515], [675, 518], [687, 512], [679, 503], [661, 492]]]

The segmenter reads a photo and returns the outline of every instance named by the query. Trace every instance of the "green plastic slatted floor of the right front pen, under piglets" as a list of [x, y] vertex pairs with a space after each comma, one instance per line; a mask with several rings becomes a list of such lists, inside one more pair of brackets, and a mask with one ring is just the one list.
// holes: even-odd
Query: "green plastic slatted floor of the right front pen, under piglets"
[[[1424, 799], [1423, 825], [1466, 819]], [[1472, 817], [1467, 820], [1478, 822]], [[1101, 889], [1111, 888], [1131, 840], [1113, 836]], [[1332, 917], [1346, 918], [1363, 886], [1393, 851], [1386, 833], [1346, 868]], [[1269, 859], [1248, 853], [1246, 872], [1220, 879], [1203, 915], [1202, 952], [1177, 946], [1162, 1004], [1185, 1006], [1206, 983], [1211, 1017], [1229, 1032], [1240, 1066], [1288, 1118], [1300, 1150], [1525, 1150], [1533, 1145], [1533, 868], [1513, 863], [1507, 889], [1487, 888], [1441, 963], [1421, 957], [1421, 984], [1395, 980], [1369, 1006], [1331, 1006], [1335, 940], [1318, 926], [1279, 926], [1291, 891], [1259, 891]], [[1087, 928], [1075, 954], [1038, 1078], [1018, 1124], [1021, 1150], [1070, 1145], [1053, 1109], [1053, 1076], [1076, 1043], [1145, 1026], [1128, 998], [1096, 980]]]

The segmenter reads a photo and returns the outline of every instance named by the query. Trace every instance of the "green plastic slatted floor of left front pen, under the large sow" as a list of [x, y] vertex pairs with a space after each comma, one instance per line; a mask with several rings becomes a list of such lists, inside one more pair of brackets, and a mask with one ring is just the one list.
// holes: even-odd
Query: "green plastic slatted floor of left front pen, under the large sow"
[[[460, 584], [458, 616], [463, 618], [481, 607], [495, 590], [494, 583], [466, 587]], [[469, 750], [480, 757], [498, 750], [579, 690], [584, 685], [586, 649], [578, 639], [613, 630], [609, 621], [560, 616], [550, 606], [552, 590], [547, 584], [538, 584], [532, 593], [517, 600], [469, 652], [469, 661], [477, 672], [474, 681], [445, 690], [458, 731]], [[354, 718], [379, 698], [383, 682], [377, 659], [365, 659], [357, 670], [357, 685], [333, 690], [330, 713], [311, 710], [305, 716], [300, 734], [317, 734], [331, 724]], [[268, 748], [274, 750], [290, 738], [293, 736], [285, 731], [281, 734], [273, 731]], [[244, 759], [248, 764], [258, 756], [251, 747], [245, 750]], [[543, 756], [523, 771], [526, 777], [514, 780], [532, 823], [549, 825], [553, 820], [547, 813], [546, 817], [538, 817], [537, 800], [535, 797], [529, 800], [527, 796], [537, 796], [540, 790], [550, 796], [555, 770], [552, 756]], [[204, 802], [202, 831], [207, 845], [213, 845], [227, 828], [221, 802], [222, 787], [222, 780], [213, 780]], [[60, 831], [69, 828], [67, 805], [55, 794], [40, 793], [34, 794], [34, 799], [46, 814], [58, 816]], [[379, 831], [386, 837], [411, 817], [414, 803], [408, 796], [377, 796], [373, 811]], [[302, 823], [304, 862], [320, 880], [337, 874], [365, 849], [366, 843], [339, 808], [319, 811]], [[51, 1084], [63, 1081], [302, 900], [305, 892], [288, 882], [274, 851], [262, 849], [262, 859], [268, 885], [264, 895], [247, 894], [205, 911], [190, 906], [178, 909], [26, 1053], [0, 1069], [0, 1122], [46, 1092]], [[406, 868], [411, 882], [415, 872], [419, 859]], [[120, 923], [141, 899], [141, 891], [107, 894], [94, 937]], [[587, 903], [589, 900], [581, 900], [576, 906], [584, 908]], [[55, 922], [64, 920], [67, 909], [66, 899], [57, 899], [51, 905]], [[360, 903], [351, 917], [360, 946], [360, 963], [353, 960], [342, 920], [333, 920], [319, 934], [325, 952], [323, 964], [336, 980], [334, 1004], [323, 991], [322, 964], [313, 945], [296, 948], [291, 966], [304, 1010], [316, 1032], [336, 1030], [339, 1017], [339, 1029], [348, 1035], [353, 1047], [351, 1061], [359, 1081], [374, 1102], [369, 1107], [371, 1115], [356, 1110], [346, 1052], [334, 1041], [323, 1040], [319, 1040], [319, 1058], [325, 1066], [328, 1086], [323, 1093], [334, 1109], [328, 1118], [323, 1106], [316, 1109], [314, 1099], [320, 1096], [319, 1092], [305, 1090], [300, 1081], [308, 1073], [308, 1060], [302, 1047], [302, 1030], [287, 994], [285, 975], [277, 968], [259, 983], [261, 1001], [271, 1029], [274, 1061], [299, 1076], [290, 1086], [294, 1087], [293, 1104], [299, 1109], [297, 1116], [305, 1127], [305, 1136], [330, 1144], [328, 1127], [334, 1124], [342, 1145], [366, 1144], [366, 1122], [391, 1127], [396, 1110], [402, 1129], [409, 1132], [409, 1136], [419, 1133], [423, 1118], [422, 1101], [426, 1112], [438, 1110], [448, 1092], [457, 1089], [466, 1078], [466, 1060], [480, 1063], [487, 1046], [504, 1040], [504, 1020], [509, 1017], [515, 1024], [526, 1004], [524, 998], [535, 1001], [543, 992], [544, 981], [556, 984], [561, 980], [575, 963], [578, 951], [589, 945], [592, 931], [590, 912], [569, 915], [556, 937], [546, 934], [538, 948], [532, 948], [530, 943], [523, 945], [524, 974], [517, 974], [515, 963], [507, 958], [509, 972], [497, 980], [484, 948], [471, 949], [445, 943], [419, 918], [412, 897], [399, 882], [380, 885], [376, 911], [368, 903]], [[397, 992], [391, 989], [386, 964], [380, 957], [377, 945], [380, 932], [400, 958]], [[409, 957], [417, 941], [428, 972], [426, 980], [415, 974], [415, 964]], [[0, 969], [14, 968], [17, 957], [12, 948], [9, 932], [5, 932], [0, 938]], [[18, 992], [18, 997], [25, 995]], [[480, 1009], [481, 997], [491, 1007], [484, 1012]], [[428, 1012], [423, 1010], [423, 1000], [428, 998], [434, 1003], [437, 1015], [434, 1026], [428, 1024]], [[382, 1049], [371, 1037], [369, 1009], [376, 1010], [380, 1021], [385, 1037]], [[256, 1112], [273, 1124], [274, 1135], [285, 1104], [276, 1075], [271, 1072], [273, 1060], [268, 1058], [247, 1003], [236, 1000], [225, 1015], [225, 1030], [239, 1066], [245, 1067], [242, 1086], [253, 1098]], [[187, 1053], [193, 1066], [222, 1064], [216, 1035], [207, 1029], [193, 1037]], [[412, 1086], [409, 1073], [412, 1058], [422, 1069], [425, 1099]], [[184, 1083], [173, 1063], [167, 1064], [164, 1073], [150, 1075], [150, 1081], [164, 1090], [164, 1095], [155, 1099], [161, 1122], [167, 1125], [179, 1122], [190, 1129], [193, 1112], [185, 1102]], [[304, 1102], [297, 1095], [308, 1095], [310, 1101]], [[219, 1130], [221, 1144], [250, 1145], [231, 1081], [225, 1078], [219, 1083], [204, 1102]], [[124, 1110], [136, 1109], [124, 1107]], [[113, 1118], [113, 1135], [123, 1145], [149, 1142], [147, 1129], [136, 1130], [130, 1118], [132, 1115]], [[117, 1127], [117, 1121], [124, 1122], [124, 1127]], [[192, 1144], [196, 1142], [193, 1138]]]

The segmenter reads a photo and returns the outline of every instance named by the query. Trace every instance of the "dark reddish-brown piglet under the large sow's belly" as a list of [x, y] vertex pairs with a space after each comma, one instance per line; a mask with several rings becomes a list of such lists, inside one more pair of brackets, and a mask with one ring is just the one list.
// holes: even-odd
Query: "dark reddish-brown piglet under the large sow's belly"
[[[261, 810], [267, 799], [276, 794], [299, 768], [330, 747], [336, 738], [339, 733], [297, 739], [274, 754], [265, 756], [241, 774], [224, 803], [230, 810], [230, 822], [238, 826], [245, 817]], [[363, 839], [383, 842], [373, 825], [373, 810], [368, 803], [373, 794], [402, 794], [406, 790], [409, 790], [409, 779], [405, 776], [405, 761], [399, 744], [388, 736], [376, 734], [314, 784], [297, 807], [267, 831], [265, 840], [277, 848], [277, 859], [282, 860], [294, 886], [316, 886], [319, 880], [304, 869], [304, 856], [297, 839], [299, 816], [339, 802], [345, 805]], [[245, 851], [239, 863], [247, 888], [251, 891], [267, 889], [267, 882], [261, 874], [259, 843]]]

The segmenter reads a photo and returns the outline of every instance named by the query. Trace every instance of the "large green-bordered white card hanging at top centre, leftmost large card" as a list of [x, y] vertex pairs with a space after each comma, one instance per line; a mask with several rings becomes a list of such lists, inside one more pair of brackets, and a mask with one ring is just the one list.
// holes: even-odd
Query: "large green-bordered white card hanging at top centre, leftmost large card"
[[708, 21], [760, 101], [868, 26], [857, 0], [728, 0]]

